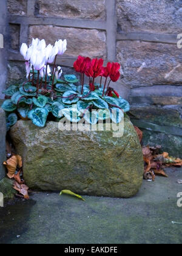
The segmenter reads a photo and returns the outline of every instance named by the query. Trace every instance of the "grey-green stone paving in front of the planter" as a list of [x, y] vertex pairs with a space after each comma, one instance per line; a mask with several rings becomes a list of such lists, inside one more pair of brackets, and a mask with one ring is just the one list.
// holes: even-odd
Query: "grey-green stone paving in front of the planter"
[[[144, 180], [131, 199], [38, 193], [0, 208], [0, 243], [182, 243], [182, 168]], [[173, 224], [172, 221], [177, 222]]]

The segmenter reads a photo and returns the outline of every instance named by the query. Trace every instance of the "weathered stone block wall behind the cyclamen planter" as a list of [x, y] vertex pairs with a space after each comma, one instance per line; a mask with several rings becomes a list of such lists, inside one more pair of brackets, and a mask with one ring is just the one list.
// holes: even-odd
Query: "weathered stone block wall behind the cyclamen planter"
[[181, 155], [182, 0], [7, 2], [7, 84], [22, 79], [21, 43], [32, 37], [47, 43], [67, 38], [68, 51], [58, 63], [70, 67], [78, 54], [120, 62], [124, 79], [115, 87], [129, 99], [133, 123], [144, 129], [144, 144], [163, 144], [164, 150]]

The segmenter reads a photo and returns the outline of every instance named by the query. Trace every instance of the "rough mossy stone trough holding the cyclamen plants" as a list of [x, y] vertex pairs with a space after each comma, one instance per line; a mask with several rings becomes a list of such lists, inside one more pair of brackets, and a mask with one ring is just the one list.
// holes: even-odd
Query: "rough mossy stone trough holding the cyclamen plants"
[[60, 131], [58, 123], [44, 128], [18, 121], [10, 130], [24, 162], [31, 189], [93, 196], [131, 197], [143, 180], [143, 154], [132, 123], [124, 120], [124, 135], [112, 131]]

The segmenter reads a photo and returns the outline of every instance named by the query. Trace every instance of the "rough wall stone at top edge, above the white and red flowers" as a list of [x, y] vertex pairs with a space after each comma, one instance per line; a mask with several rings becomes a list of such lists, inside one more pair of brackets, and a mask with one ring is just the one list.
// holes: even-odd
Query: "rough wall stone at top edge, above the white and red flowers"
[[106, 18], [105, 0], [38, 0], [36, 12], [42, 16], [103, 20]]

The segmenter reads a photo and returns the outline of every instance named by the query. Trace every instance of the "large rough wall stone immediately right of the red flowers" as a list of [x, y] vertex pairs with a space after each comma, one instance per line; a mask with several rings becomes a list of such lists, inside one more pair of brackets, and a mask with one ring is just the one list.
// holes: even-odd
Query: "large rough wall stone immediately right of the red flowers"
[[182, 51], [175, 44], [118, 41], [117, 59], [130, 88], [181, 85]]

